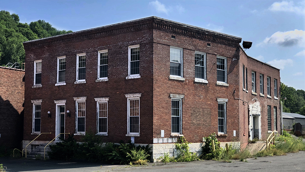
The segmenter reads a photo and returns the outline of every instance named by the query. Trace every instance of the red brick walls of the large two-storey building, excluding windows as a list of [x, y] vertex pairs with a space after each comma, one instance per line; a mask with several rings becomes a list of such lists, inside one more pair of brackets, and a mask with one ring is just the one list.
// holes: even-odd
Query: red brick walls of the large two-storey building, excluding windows
[[[251, 79], [249, 71], [256, 70], [259, 73], [262, 69], [260, 65], [264, 66], [266, 75], [269, 76], [271, 72], [270, 76], [278, 79], [278, 86], [280, 78], [279, 71], [270, 65], [246, 55], [240, 57], [239, 54], [242, 53], [239, 49], [240, 42], [241, 38], [235, 36], [158, 17], [24, 42], [27, 64], [24, 140], [32, 140], [37, 136], [31, 134], [33, 123], [31, 100], [42, 99], [41, 133], [51, 132], [52, 134], [42, 135], [38, 141], [46, 141], [55, 137], [56, 104], [54, 100], [66, 100], [65, 110], [69, 110], [71, 116], [65, 115], [65, 132], [74, 134], [76, 118], [74, 97], [86, 97], [85, 130], [92, 132], [96, 132], [97, 128], [97, 109], [94, 98], [109, 97], [108, 133], [101, 137], [105, 142], [120, 140], [128, 142], [131, 135], [126, 136], [127, 98], [125, 94], [141, 93], [139, 98], [140, 134], [135, 136], [135, 143], [165, 143], [169, 140], [174, 141], [174, 138], [181, 134], [188, 141], [202, 142], [202, 137], [214, 132], [218, 134], [217, 99], [220, 98], [227, 101], [227, 123], [226, 132], [219, 134], [218, 139], [221, 142], [240, 141], [241, 145], [244, 145], [249, 138], [248, 104], [243, 105], [242, 101], [236, 98], [249, 102], [253, 97], [251, 93], [245, 93], [242, 90], [240, 81], [242, 64], [248, 65], [248, 81]], [[209, 46], [207, 46], [208, 43]], [[133, 45], [140, 45], [140, 77], [126, 79], [128, 46]], [[179, 78], [180, 80], [170, 77], [170, 47], [181, 48], [183, 52], [183, 77]], [[108, 81], [96, 82], [98, 51], [105, 49], [108, 50]], [[206, 53], [206, 81], [208, 83], [195, 82], [195, 51]], [[86, 83], [75, 84], [76, 55], [79, 53], [86, 53]], [[57, 57], [61, 56], [66, 57], [66, 85], [55, 86]], [[227, 82], [224, 84], [217, 84], [217, 57], [226, 58]], [[35, 60], [42, 60], [42, 80], [41, 87], [32, 88]], [[183, 95], [180, 134], [171, 133], [171, 94]], [[267, 97], [262, 99], [259, 95], [256, 97], [261, 104], [269, 103], [272, 107], [279, 102], [273, 99], [268, 102]], [[276, 106], [279, 109], [279, 105]], [[266, 111], [262, 109], [262, 112]], [[52, 114], [51, 118], [48, 118], [48, 111]], [[262, 118], [263, 122], [266, 122], [264, 118]], [[161, 137], [161, 130], [164, 130], [164, 137]], [[236, 132], [236, 136], [233, 136], [233, 131]], [[265, 124], [262, 125], [262, 132], [265, 132]], [[266, 134], [262, 136], [265, 138]]]

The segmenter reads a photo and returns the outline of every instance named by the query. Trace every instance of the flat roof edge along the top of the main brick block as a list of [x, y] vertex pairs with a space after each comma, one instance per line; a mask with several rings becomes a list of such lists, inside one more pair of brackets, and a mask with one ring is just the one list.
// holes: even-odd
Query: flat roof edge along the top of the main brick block
[[130, 21], [125, 21], [125, 22], [121, 22], [121, 23], [116, 23], [116, 24], [110, 24], [110, 25], [106, 25], [106, 26], [101, 26], [101, 27], [95, 27], [95, 28], [86, 29], [86, 30], [81, 30], [81, 31], [76, 31], [76, 32], [71, 32], [71, 33], [66, 33], [66, 34], [61, 34], [61, 35], [50, 36], [50, 37], [46, 37], [46, 38], [39, 38], [39, 39], [30, 40], [30, 41], [24, 41], [23, 43], [36, 42], [36, 41], [45, 40], [45, 39], [49, 39], [49, 38], [56, 38], [56, 37], [64, 36], [64, 35], [73, 35], [73, 34], [76, 34], [76, 33], [81, 33], [81, 32], [86, 32], [86, 31], [92, 31], [92, 30], [101, 29], [101, 28], [105, 28], [105, 27], [116, 26], [116, 25], [120, 25], [120, 24], [126, 24], [126, 23], [141, 21], [141, 20], [147, 20], [147, 19], [151, 19], [151, 18], [156, 18], [156, 19], [160, 19], [160, 20], [172, 22], [172, 23], [175, 23], [175, 24], [180, 24], [180, 25], [184, 25], [184, 26], [187, 26], [187, 27], [200, 29], [200, 30], [203, 30], [203, 31], [209, 31], [209, 32], [212, 32], [212, 33], [216, 33], [216, 34], [219, 34], [219, 35], [225, 35], [225, 36], [232, 37], [232, 38], [236, 38], [236, 39], [242, 39], [242, 38], [239, 38], [239, 37], [237, 37], [237, 36], [228, 35], [228, 34], [224, 34], [224, 33], [217, 32], [217, 31], [212, 31], [212, 30], [208, 30], [208, 29], [201, 28], [201, 27], [192, 26], [192, 25], [189, 25], [189, 24], [179, 23], [179, 22], [176, 22], [176, 21], [167, 20], [167, 19], [164, 19], [164, 18], [156, 17], [156, 16], [150, 16], [150, 17], [145, 17], [145, 18], [141, 18], [141, 19], [130, 20]]

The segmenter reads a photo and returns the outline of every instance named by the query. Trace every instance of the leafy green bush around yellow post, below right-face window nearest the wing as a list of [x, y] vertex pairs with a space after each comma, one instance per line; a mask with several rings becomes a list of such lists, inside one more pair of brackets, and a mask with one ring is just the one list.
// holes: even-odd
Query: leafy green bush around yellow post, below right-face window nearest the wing
[[[216, 134], [213, 133], [208, 137], [205, 137], [205, 145], [202, 147], [202, 155], [200, 158], [202, 159], [218, 159], [221, 156], [221, 152], [223, 149], [220, 147], [220, 141], [218, 141]], [[212, 149], [212, 140], [214, 140], [215, 151]]]

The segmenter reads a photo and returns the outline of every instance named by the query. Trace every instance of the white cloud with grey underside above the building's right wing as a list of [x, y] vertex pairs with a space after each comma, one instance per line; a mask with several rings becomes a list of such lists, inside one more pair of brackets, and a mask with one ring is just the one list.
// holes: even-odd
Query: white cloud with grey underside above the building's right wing
[[300, 45], [305, 46], [305, 31], [302, 30], [294, 30], [294, 31], [286, 31], [286, 32], [275, 32], [271, 37], [267, 37], [262, 44], [277, 44], [279, 46], [294, 46]]

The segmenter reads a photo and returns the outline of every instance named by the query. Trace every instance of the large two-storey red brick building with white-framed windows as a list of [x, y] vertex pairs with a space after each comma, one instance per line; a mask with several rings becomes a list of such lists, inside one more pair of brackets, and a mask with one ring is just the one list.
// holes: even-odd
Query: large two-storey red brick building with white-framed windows
[[[274, 119], [264, 116], [267, 106], [268, 114], [270, 107], [279, 112], [273, 88], [271, 98], [265, 93], [267, 77], [268, 88], [277, 79], [278, 92], [279, 70], [247, 56], [240, 42], [154, 16], [24, 42], [24, 144], [39, 133], [52, 132], [37, 143], [63, 132], [80, 138], [92, 131], [105, 142], [152, 144], [158, 157], [164, 153], [160, 145], [173, 145], [180, 136], [197, 147], [214, 132], [221, 142], [243, 147], [249, 137], [264, 139], [274, 129]], [[249, 132], [249, 107], [253, 114], [261, 109], [254, 120], [258, 135]], [[275, 119], [280, 126], [280, 116]]]

